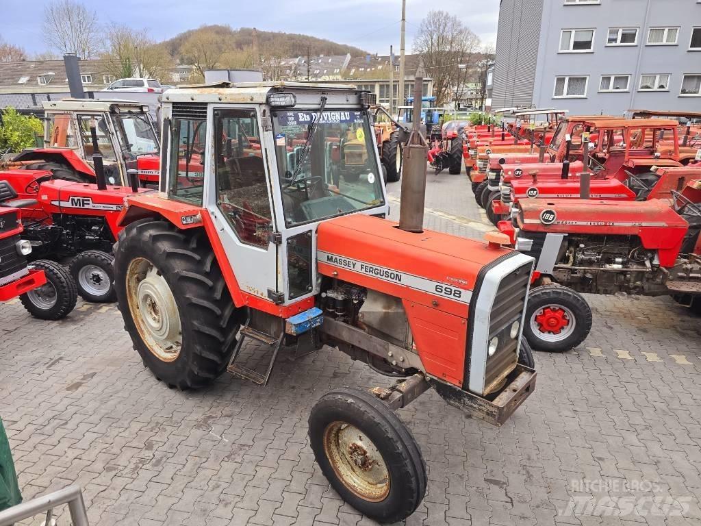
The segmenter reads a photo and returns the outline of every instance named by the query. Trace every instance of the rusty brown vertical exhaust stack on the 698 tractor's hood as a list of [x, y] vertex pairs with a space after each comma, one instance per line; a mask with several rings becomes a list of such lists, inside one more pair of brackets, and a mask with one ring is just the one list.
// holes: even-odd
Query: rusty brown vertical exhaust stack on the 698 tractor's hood
[[414, 119], [404, 147], [402, 201], [399, 227], [407, 232], [423, 232], [423, 206], [426, 203], [426, 155], [428, 143], [421, 135], [421, 93], [423, 77], [414, 79]]

